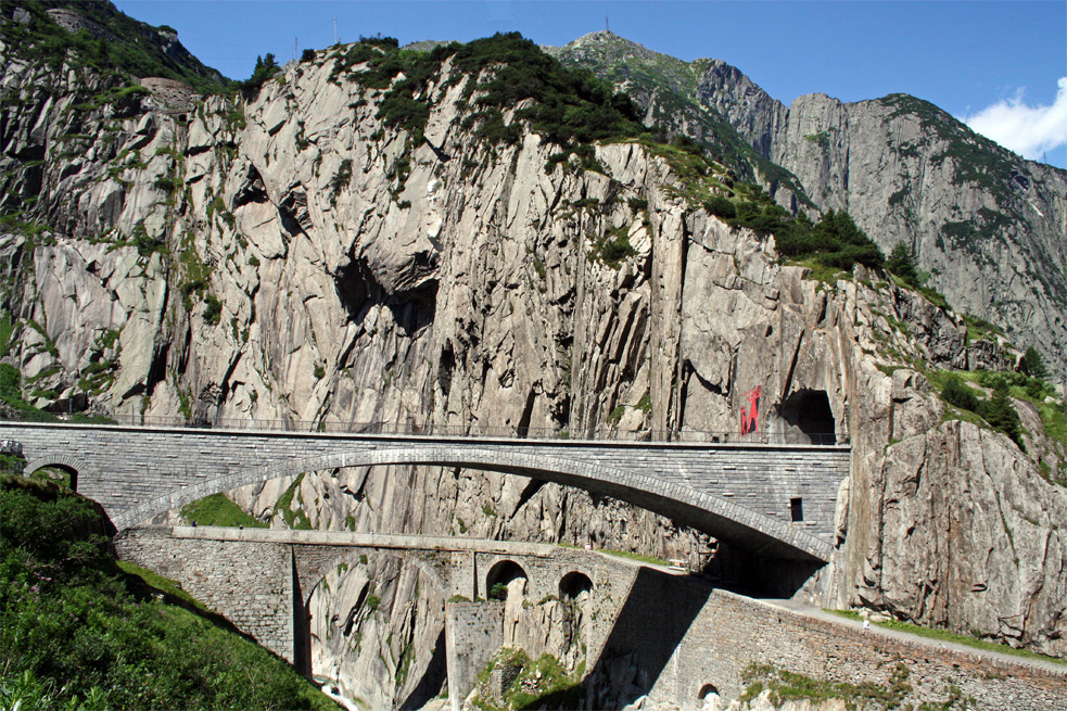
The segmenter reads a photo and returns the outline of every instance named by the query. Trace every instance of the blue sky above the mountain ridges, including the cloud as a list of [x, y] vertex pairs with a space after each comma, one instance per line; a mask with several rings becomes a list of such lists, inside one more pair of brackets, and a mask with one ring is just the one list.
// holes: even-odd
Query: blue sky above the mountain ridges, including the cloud
[[[128, 15], [178, 30], [231, 78], [256, 56], [381, 33], [401, 43], [519, 30], [566, 45], [604, 29], [684, 60], [721, 59], [790, 103], [906, 92], [968, 119], [1027, 157], [1067, 167], [1067, 2], [518, 0], [119, 0]], [[1060, 82], [1060, 79], [1064, 81]]]

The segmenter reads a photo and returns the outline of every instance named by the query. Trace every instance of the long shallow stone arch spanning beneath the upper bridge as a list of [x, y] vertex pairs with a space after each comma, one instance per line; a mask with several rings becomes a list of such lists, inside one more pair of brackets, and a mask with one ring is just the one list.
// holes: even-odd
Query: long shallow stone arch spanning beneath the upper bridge
[[119, 531], [196, 499], [282, 477], [341, 467], [423, 465], [518, 474], [575, 486], [633, 504], [777, 558], [826, 562], [833, 546], [806, 531], [674, 481], [549, 455], [459, 445], [388, 447], [283, 460], [185, 486], [112, 517]]

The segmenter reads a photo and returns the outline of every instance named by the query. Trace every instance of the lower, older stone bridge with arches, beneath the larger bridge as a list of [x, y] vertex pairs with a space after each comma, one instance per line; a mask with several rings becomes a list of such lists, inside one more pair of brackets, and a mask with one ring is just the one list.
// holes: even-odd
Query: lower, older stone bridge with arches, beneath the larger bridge
[[[506, 642], [504, 609], [488, 599], [494, 585], [521, 577], [525, 600], [587, 593], [588, 611], [602, 612], [587, 625], [589, 653], [595, 658], [640, 568], [602, 554], [546, 544], [330, 531], [144, 526], [123, 531], [114, 545], [120, 559], [177, 581], [307, 676], [313, 673], [314, 638], [308, 610], [327, 574], [374, 564], [382, 556], [399, 558], [425, 574], [440, 600], [450, 600], [448, 610], [442, 610], [448, 626], [447, 676], [450, 691], [460, 699]], [[328, 586], [322, 592], [332, 595]]]

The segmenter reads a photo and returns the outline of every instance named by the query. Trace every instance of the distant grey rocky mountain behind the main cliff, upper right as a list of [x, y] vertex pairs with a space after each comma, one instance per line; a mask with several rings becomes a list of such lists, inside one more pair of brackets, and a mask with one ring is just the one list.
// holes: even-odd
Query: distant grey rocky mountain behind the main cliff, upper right
[[[650, 114], [681, 104], [703, 123], [728, 122], [780, 166], [757, 172], [772, 193], [787, 189], [779, 203], [848, 210], [887, 254], [903, 242], [953, 306], [1037, 346], [1063, 380], [1067, 172], [1020, 158], [906, 94], [851, 104], [810, 94], [787, 107], [720, 60], [685, 63], [610, 33], [554, 52], [615, 81]], [[699, 126], [676, 129], [707, 139]]]

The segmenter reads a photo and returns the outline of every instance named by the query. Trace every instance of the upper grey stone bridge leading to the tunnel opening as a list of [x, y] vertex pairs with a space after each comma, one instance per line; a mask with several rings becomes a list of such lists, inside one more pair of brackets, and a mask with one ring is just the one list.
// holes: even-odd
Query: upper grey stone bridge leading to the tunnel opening
[[758, 554], [825, 562], [847, 445], [515, 440], [0, 422], [26, 473], [68, 471], [122, 531], [246, 484], [340, 467], [519, 474], [634, 504]]

